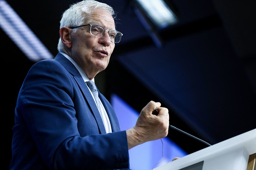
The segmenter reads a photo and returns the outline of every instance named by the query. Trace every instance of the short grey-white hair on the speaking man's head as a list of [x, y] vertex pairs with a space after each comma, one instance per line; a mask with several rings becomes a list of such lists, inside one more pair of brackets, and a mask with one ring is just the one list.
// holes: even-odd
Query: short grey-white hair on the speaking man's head
[[[63, 12], [62, 18], [59, 22], [59, 28], [74, 27], [84, 24], [84, 22], [91, 15], [91, 13], [94, 12], [95, 9], [102, 9], [106, 12], [109, 12], [109, 14], [112, 15], [113, 18], [116, 18], [116, 13], [114, 9], [106, 3], [100, 3], [96, 0], [83, 0], [81, 2], [70, 5], [69, 9], [66, 9], [66, 11]], [[74, 29], [73, 31], [75, 32], [76, 30], [77, 29]], [[63, 48], [64, 45], [61, 41], [61, 38], [59, 38], [57, 49], [59, 52], [61, 52]]]

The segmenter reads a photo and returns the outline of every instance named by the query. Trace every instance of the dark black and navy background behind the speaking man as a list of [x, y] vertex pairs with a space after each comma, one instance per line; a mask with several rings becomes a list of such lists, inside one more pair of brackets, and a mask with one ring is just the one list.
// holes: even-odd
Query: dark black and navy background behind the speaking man
[[[115, 93], [138, 112], [159, 101], [169, 109], [170, 124], [212, 145], [256, 128], [255, 0], [167, 0], [179, 22], [155, 30], [161, 46], [138, 19], [133, 1], [99, 1], [118, 12], [117, 30], [124, 34], [109, 66], [95, 78], [109, 100]], [[54, 56], [60, 17], [74, 2], [7, 0]], [[34, 62], [1, 29], [0, 37], [2, 167], [8, 169], [16, 98]], [[172, 129], [168, 137], [188, 154], [207, 147]]]

